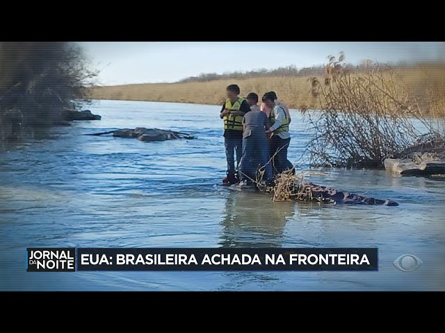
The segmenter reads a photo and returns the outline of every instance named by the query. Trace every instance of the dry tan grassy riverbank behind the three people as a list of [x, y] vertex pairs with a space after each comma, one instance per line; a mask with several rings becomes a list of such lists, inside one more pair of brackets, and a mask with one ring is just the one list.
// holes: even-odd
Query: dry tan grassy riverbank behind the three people
[[[428, 85], [443, 85], [445, 67], [442, 65], [419, 65], [416, 67], [396, 68], [399, 80], [412, 87], [414, 94], [421, 99]], [[262, 96], [273, 90], [290, 108], [302, 106], [318, 108], [318, 97], [310, 93], [310, 76], [265, 76], [256, 78], [236, 78], [210, 80], [207, 82], [187, 83], [143, 83], [131, 85], [113, 85], [92, 87], [92, 99], [108, 99], [120, 101], [157, 101], [218, 105], [225, 100], [225, 87], [236, 83], [241, 94], [256, 92]], [[445, 116], [445, 114], [444, 114]]]

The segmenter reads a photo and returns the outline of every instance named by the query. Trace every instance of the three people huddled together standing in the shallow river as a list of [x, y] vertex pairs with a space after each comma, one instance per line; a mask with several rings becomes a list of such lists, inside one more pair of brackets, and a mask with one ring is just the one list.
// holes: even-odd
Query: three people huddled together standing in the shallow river
[[254, 92], [245, 99], [239, 97], [238, 85], [229, 85], [226, 92], [227, 100], [220, 112], [227, 158], [223, 183], [250, 185], [257, 180], [257, 171], [263, 169], [261, 181], [267, 184], [275, 174], [292, 169], [293, 164], [287, 160], [291, 142], [289, 108], [278, 101], [275, 92], [266, 92], [261, 105]]

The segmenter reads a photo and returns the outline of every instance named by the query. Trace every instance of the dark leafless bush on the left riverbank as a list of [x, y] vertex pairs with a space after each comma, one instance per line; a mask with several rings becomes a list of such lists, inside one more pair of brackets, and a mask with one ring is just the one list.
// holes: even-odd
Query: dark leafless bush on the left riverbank
[[0, 62], [0, 139], [10, 110], [21, 114], [22, 129], [47, 128], [87, 99], [97, 75], [81, 47], [68, 42], [1, 42]]

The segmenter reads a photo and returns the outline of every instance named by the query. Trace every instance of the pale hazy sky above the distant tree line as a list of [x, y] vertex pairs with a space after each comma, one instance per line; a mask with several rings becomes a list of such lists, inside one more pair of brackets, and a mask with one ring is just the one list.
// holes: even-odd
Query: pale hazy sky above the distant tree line
[[175, 82], [201, 73], [321, 65], [330, 54], [346, 61], [438, 60], [443, 42], [81, 42], [99, 84]]

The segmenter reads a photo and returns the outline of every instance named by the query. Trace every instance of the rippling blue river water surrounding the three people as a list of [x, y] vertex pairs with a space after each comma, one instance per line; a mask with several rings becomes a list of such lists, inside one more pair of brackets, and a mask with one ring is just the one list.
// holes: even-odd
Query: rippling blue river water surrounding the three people
[[[216, 186], [225, 176], [219, 106], [95, 101], [101, 121], [0, 153], [0, 290], [444, 290], [443, 178], [327, 170], [315, 183], [398, 207], [273, 203]], [[292, 111], [289, 160], [309, 135]], [[156, 127], [197, 135], [147, 143], [86, 136]], [[366, 247], [375, 272], [26, 273], [26, 247]], [[423, 266], [398, 271], [400, 255]]]

